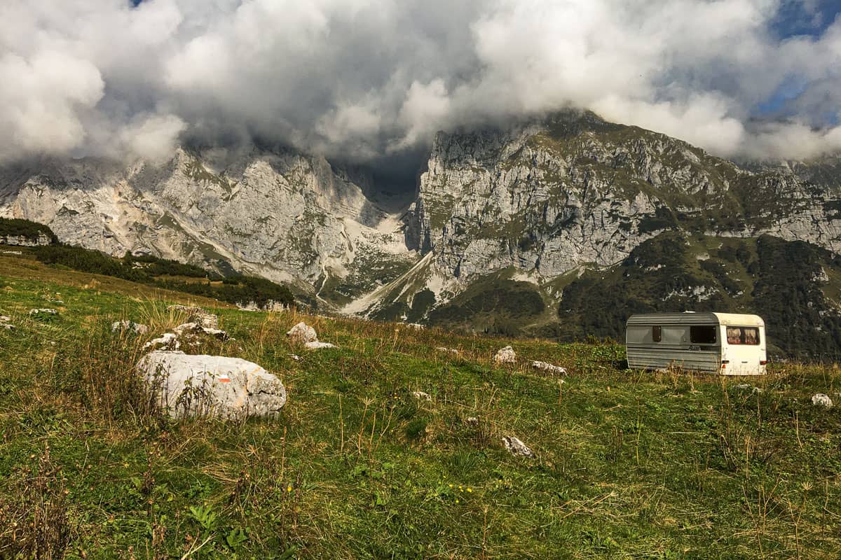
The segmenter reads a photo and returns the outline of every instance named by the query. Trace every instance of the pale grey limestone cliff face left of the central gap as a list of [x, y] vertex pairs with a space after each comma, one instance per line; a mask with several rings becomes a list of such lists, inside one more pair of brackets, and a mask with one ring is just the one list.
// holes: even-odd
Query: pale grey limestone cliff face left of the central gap
[[161, 165], [41, 161], [0, 174], [0, 216], [45, 223], [64, 243], [151, 253], [315, 290], [357, 254], [407, 258], [399, 220], [364, 178], [326, 160], [178, 149]]

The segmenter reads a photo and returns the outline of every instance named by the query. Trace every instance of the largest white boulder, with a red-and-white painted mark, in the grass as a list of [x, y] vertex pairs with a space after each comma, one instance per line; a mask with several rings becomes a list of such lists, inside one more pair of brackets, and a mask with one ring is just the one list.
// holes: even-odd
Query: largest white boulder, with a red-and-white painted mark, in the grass
[[280, 379], [244, 359], [152, 352], [137, 369], [173, 418], [273, 416], [286, 404]]

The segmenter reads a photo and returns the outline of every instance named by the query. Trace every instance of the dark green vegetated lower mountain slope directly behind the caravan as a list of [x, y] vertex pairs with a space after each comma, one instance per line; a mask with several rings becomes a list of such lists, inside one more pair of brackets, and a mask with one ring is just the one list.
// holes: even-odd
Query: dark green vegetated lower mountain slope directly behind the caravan
[[841, 257], [803, 242], [662, 233], [564, 290], [543, 336], [624, 337], [633, 313], [734, 311], [764, 318], [776, 357], [841, 358]]

